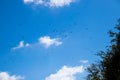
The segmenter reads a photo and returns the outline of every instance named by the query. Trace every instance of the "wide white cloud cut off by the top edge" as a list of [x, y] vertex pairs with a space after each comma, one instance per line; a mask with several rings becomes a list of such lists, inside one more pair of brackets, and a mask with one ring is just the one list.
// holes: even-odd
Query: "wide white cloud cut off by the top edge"
[[75, 0], [23, 0], [23, 1], [25, 4], [31, 3], [50, 7], [63, 7], [75, 2]]

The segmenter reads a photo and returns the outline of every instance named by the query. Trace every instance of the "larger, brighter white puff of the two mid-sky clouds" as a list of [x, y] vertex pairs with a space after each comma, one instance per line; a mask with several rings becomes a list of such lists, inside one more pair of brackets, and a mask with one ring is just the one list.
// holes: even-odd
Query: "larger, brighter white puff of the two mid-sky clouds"
[[51, 45], [59, 46], [62, 44], [58, 38], [50, 38], [49, 36], [40, 37], [39, 43], [43, 44], [46, 48], [50, 47]]

